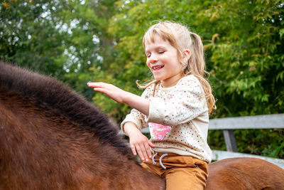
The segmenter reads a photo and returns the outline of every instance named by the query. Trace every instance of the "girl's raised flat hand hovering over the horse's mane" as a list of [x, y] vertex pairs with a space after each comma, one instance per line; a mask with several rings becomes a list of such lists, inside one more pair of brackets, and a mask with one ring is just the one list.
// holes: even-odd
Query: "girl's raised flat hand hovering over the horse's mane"
[[127, 92], [117, 88], [115, 85], [108, 83], [87, 83], [91, 88], [94, 88], [95, 91], [106, 94], [111, 97], [113, 100], [119, 103], [124, 103], [124, 99], [127, 95]]

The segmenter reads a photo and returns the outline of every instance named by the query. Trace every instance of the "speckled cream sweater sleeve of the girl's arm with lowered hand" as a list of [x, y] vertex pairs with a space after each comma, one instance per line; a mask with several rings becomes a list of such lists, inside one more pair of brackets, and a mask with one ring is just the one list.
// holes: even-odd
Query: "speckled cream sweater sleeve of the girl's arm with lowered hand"
[[[141, 97], [148, 99], [151, 96], [151, 92], [153, 93], [153, 85], [149, 86], [144, 90]], [[145, 115], [143, 113], [139, 112], [136, 109], [132, 109], [129, 115], [126, 115], [123, 122], [121, 122], [121, 130], [124, 132], [124, 124], [126, 122], [133, 122], [138, 130], [141, 130], [145, 127], [148, 127], [148, 124], [145, 121]]]

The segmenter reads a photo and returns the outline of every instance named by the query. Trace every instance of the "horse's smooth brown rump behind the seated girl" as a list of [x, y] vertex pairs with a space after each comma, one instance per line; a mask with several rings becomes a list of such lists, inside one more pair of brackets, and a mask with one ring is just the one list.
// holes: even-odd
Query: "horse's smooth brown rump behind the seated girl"
[[209, 164], [206, 189], [284, 189], [284, 170], [263, 159], [222, 159]]

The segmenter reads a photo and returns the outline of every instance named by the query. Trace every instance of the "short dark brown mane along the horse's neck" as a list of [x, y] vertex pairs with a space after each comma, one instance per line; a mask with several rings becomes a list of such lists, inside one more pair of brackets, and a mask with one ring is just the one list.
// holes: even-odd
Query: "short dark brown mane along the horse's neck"
[[133, 159], [126, 140], [119, 135], [118, 127], [109, 122], [107, 115], [55, 78], [0, 61], [0, 88], [62, 114], [68, 120], [89, 129], [102, 143], [109, 142], [128, 155], [129, 159]]

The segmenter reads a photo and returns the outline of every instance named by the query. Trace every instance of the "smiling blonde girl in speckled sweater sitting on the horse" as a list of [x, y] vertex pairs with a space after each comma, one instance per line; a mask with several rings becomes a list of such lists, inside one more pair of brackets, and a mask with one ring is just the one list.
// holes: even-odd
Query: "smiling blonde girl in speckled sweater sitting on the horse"
[[[129, 136], [142, 167], [165, 178], [167, 189], [204, 189], [212, 156], [207, 131], [214, 97], [203, 77], [200, 36], [163, 21], [148, 29], [143, 46], [155, 80], [141, 97], [107, 83], [88, 85], [133, 107], [121, 130]], [[149, 127], [150, 140], [140, 132], [143, 127]]]

